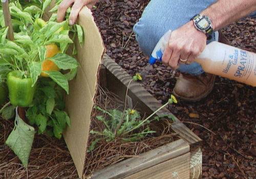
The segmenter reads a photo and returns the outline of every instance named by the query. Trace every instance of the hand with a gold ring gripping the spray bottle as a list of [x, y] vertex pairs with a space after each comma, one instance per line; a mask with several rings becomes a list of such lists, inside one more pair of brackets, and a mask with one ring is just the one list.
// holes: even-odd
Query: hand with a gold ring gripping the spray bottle
[[162, 56], [163, 64], [176, 70], [179, 61], [186, 61], [187, 64], [193, 62], [203, 52], [206, 40], [206, 35], [194, 27], [193, 21], [189, 21], [170, 35]]

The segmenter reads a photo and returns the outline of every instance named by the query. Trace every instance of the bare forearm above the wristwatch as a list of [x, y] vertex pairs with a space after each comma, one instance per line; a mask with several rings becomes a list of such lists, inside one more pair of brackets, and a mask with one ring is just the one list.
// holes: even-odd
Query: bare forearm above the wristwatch
[[210, 17], [216, 31], [253, 11], [256, 11], [255, 0], [219, 0], [200, 14]]

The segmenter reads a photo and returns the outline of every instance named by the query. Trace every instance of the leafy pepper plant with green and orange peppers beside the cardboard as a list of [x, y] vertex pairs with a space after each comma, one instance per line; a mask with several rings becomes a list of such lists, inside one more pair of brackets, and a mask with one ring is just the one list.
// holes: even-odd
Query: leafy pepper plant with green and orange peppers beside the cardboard
[[25, 167], [36, 130], [60, 139], [70, 125], [63, 96], [69, 94], [68, 82], [75, 77], [78, 63], [66, 52], [75, 37], [83, 43], [79, 25], [69, 26], [67, 20], [57, 23], [56, 13], [47, 22], [41, 19], [50, 3], [11, 1], [14, 41], [6, 38], [8, 27], [3, 23], [0, 6], [0, 82], [7, 83], [10, 99], [0, 113], [4, 119], [10, 119], [16, 106], [26, 107], [26, 118], [32, 126], [16, 111], [15, 127], [6, 141]]

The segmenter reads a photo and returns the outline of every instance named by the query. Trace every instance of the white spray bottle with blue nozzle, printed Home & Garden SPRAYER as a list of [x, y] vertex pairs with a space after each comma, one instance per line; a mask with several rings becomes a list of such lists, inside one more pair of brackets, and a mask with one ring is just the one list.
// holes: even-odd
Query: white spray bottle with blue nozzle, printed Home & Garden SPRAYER
[[[150, 64], [162, 61], [162, 55], [171, 33], [172, 31], [169, 30], [159, 40], [150, 57]], [[255, 53], [213, 41], [207, 44], [195, 61], [201, 64], [206, 73], [256, 86]]]

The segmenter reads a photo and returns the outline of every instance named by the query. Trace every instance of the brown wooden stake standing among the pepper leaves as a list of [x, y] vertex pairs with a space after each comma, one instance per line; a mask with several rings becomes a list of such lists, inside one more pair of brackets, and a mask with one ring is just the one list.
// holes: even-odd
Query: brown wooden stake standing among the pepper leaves
[[11, 14], [10, 14], [10, 10], [9, 10], [9, 2], [8, 2], [8, 0], [1, 0], [1, 1], [2, 1], [2, 6], [3, 6], [4, 18], [5, 18], [5, 26], [9, 27], [8, 39], [13, 41], [14, 36], [13, 36]]

